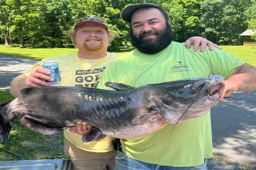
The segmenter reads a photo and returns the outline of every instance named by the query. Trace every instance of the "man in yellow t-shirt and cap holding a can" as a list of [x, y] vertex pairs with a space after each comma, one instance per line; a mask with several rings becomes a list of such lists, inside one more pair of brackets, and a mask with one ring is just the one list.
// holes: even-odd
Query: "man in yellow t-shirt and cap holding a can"
[[[69, 37], [78, 52], [67, 56], [47, 58], [43, 61], [57, 61], [61, 71], [61, 83], [57, 86], [82, 86], [95, 88], [99, 82], [99, 75], [105, 67], [117, 57], [114, 53], [107, 52], [107, 47], [114, 35], [105, 20], [99, 16], [86, 15], [79, 18], [74, 28], [69, 31]], [[213, 44], [201, 37], [193, 37], [190, 44], [202, 43], [203, 46]], [[201, 48], [201, 50], [203, 50]], [[33, 66], [26, 74], [21, 74], [11, 83], [13, 96], [21, 96], [20, 90], [25, 87], [52, 86], [49, 72], [42, 69], [42, 62]], [[77, 122], [76, 127], [65, 130], [65, 153], [73, 163], [73, 169], [114, 169], [116, 150], [113, 138], [99, 138], [99, 141], [83, 143], [82, 137], [93, 127], [85, 122]], [[77, 134], [76, 134], [77, 133]]]

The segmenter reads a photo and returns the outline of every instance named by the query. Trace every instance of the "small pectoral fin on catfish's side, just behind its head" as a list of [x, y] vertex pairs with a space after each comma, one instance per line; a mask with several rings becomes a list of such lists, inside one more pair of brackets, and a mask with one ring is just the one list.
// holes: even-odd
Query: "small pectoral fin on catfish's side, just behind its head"
[[159, 117], [159, 115], [155, 112], [150, 112], [144, 115], [139, 115], [134, 117], [132, 120], [132, 125], [141, 125], [147, 122], [154, 122], [154, 120]]

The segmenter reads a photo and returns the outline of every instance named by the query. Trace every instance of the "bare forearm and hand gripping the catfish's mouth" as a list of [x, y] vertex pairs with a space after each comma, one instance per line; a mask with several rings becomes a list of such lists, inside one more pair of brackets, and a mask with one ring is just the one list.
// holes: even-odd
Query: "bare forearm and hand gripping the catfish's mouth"
[[209, 94], [219, 91], [219, 100], [230, 95], [234, 91], [254, 91], [256, 90], [256, 68], [249, 64], [243, 64], [234, 70], [227, 80], [222, 81], [213, 87]]

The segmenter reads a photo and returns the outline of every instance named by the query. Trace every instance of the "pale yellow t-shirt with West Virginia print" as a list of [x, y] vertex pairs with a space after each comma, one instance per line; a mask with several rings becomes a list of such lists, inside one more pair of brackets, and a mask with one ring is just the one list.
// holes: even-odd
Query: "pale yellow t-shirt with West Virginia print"
[[[43, 61], [56, 61], [59, 64], [61, 82], [54, 84], [54, 86], [82, 86], [96, 88], [101, 72], [116, 58], [117, 56], [114, 53], [108, 53], [107, 56], [100, 59], [86, 60], [79, 58], [77, 53], [72, 53], [65, 56], [46, 58], [35, 64], [30, 71], [25, 73], [25, 75], [28, 76], [37, 67], [42, 67]], [[112, 137], [106, 137], [100, 141], [83, 143], [82, 136], [70, 133], [69, 129], [64, 131], [64, 136], [76, 147], [86, 151], [108, 152], [114, 149], [112, 145], [114, 138]]]

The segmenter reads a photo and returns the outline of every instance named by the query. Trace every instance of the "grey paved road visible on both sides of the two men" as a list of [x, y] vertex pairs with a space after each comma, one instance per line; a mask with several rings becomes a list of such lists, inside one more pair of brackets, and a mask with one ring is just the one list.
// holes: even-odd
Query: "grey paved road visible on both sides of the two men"
[[[9, 90], [10, 82], [26, 72], [35, 61], [0, 54], [0, 90]], [[256, 91], [236, 92], [229, 102], [212, 108], [214, 154], [239, 165], [256, 166]], [[216, 160], [210, 169], [239, 169]]]

